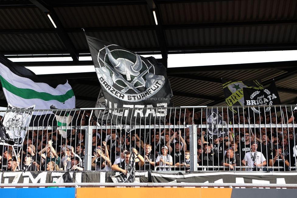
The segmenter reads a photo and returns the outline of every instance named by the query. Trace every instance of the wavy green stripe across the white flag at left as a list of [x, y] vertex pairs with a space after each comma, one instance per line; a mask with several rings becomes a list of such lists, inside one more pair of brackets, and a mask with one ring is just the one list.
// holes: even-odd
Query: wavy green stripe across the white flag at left
[[2, 87], [4, 87], [12, 94], [15, 94], [16, 96], [22, 97], [24, 99], [38, 98], [44, 101], [56, 100], [59, 102], [65, 102], [69, 98], [72, 98], [74, 96], [74, 92], [72, 89], [68, 90], [66, 94], [63, 95], [52, 95], [46, 92], [38, 92], [32, 89], [23, 89], [15, 87], [14, 85], [10, 84], [7, 80], [5, 80], [2, 76], [0, 76], [0, 80], [2, 83]]

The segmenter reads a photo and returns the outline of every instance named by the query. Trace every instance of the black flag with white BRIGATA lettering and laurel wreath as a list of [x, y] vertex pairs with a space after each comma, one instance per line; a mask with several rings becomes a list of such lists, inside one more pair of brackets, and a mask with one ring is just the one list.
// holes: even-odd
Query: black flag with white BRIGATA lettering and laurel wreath
[[[269, 87], [264, 90], [255, 90], [250, 88], [243, 88], [244, 94], [244, 105], [245, 106], [255, 106], [251, 110], [256, 114], [269, 114], [270, 111], [274, 112], [274, 109], [270, 110], [268, 105], [281, 104], [281, 100], [278, 95], [278, 90], [276, 88], [275, 82], [273, 81]], [[265, 106], [263, 108], [258, 107]], [[257, 107], [256, 107], [257, 106]], [[277, 108], [278, 111], [279, 108]]]

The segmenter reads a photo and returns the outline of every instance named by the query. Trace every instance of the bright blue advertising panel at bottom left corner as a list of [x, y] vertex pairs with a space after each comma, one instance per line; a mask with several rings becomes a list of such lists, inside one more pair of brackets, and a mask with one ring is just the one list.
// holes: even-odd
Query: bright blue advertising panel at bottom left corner
[[7, 197], [33, 197], [33, 195], [37, 195], [42, 198], [75, 198], [75, 188], [1, 188], [0, 195]]

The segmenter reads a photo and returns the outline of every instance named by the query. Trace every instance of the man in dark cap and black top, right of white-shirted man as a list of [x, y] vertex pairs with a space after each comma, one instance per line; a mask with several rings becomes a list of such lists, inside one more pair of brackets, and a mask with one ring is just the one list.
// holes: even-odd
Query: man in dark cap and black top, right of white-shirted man
[[281, 145], [275, 145], [273, 155], [269, 159], [269, 166], [273, 166], [274, 171], [285, 171], [288, 170], [289, 165], [290, 163], [288, 162], [287, 157], [282, 154]]

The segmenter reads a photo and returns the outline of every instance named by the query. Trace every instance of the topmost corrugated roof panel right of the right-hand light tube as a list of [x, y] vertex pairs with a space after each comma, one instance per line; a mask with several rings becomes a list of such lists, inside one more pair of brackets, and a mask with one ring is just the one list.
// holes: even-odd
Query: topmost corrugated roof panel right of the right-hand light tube
[[296, 8], [295, 0], [168, 1], [159, 5], [164, 25], [297, 19]]

